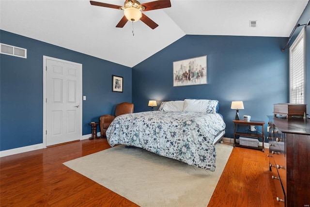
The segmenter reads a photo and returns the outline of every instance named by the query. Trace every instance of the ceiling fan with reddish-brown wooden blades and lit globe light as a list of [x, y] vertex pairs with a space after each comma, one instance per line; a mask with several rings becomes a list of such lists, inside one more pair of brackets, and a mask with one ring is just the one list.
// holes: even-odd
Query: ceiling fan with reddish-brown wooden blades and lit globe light
[[122, 28], [127, 23], [127, 21], [135, 22], [140, 19], [153, 30], [158, 27], [158, 24], [156, 24], [152, 19], [144, 15], [142, 12], [171, 7], [170, 0], [156, 0], [142, 4], [137, 0], [125, 0], [124, 6], [118, 6], [92, 0], [90, 2], [94, 6], [103, 6], [113, 9], [124, 10], [124, 16], [121, 21], [116, 25], [116, 27]]

